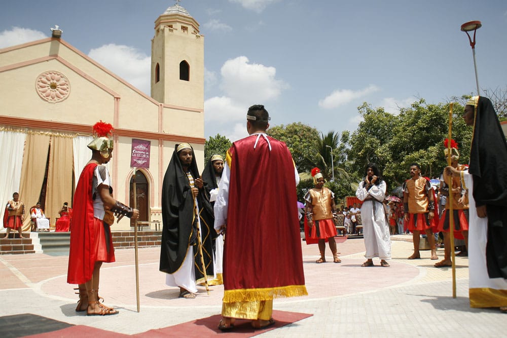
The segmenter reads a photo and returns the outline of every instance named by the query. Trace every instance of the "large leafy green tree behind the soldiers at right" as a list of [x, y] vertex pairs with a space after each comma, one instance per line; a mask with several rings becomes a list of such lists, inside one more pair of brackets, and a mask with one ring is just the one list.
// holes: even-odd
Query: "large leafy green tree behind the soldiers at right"
[[[452, 138], [459, 144], [461, 163], [467, 163], [472, 130], [466, 128], [463, 105], [455, 103], [452, 116]], [[374, 162], [383, 172], [388, 192], [409, 177], [410, 163], [421, 166], [422, 175], [438, 177], [447, 165], [443, 141], [448, 137], [449, 103], [426, 104], [424, 99], [399, 115], [382, 107], [373, 109], [367, 103], [358, 107], [361, 122], [350, 137], [349, 159], [363, 176], [365, 166]]]

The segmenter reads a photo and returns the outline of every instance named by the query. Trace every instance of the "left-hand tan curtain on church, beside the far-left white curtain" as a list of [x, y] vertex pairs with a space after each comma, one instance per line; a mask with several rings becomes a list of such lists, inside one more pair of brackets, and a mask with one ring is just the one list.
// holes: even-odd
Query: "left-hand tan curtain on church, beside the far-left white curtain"
[[25, 203], [25, 220], [23, 231], [30, 231], [30, 207], [38, 202], [48, 160], [49, 135], [26, 135], [23, 152], [23, 165], [19, 185], [19, 199]]

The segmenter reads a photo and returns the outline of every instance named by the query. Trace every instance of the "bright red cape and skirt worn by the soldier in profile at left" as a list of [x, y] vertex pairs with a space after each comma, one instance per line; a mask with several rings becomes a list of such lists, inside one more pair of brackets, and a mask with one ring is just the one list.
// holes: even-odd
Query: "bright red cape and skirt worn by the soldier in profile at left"
[[[96, 163], [88, 164], [79, 177], [74, 193], [73, 220], [70, 231], [67, 283], [83, 284], [92, 277], [96, 261], [115, 261], [109, 226], [93, 216], [92, 182]], [[106, 235], [109, 235], [109, 250]]]

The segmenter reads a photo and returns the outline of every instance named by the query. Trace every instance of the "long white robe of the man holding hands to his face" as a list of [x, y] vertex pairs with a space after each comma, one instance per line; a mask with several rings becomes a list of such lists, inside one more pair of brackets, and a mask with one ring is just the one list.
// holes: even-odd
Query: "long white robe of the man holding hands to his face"
[[[363, 202], [361, 206], [361, 220], [365, 238], [365, 257], [371, 259], [391, 259], [391, 238], [389, 223], [387, 222], [382, 201], [385, 198], [385, 181], [373, 185], [369, 191], [364, 187], [365, 181], [359, 183], [355, 196]], [[367, 198], [372, 200], [365, 201]]]

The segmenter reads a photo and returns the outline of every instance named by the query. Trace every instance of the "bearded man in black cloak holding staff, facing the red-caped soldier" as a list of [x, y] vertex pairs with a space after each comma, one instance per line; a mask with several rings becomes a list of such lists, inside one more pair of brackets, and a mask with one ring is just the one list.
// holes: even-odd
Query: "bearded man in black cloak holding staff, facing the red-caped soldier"
[[160, 271], [168, 274], [167, 285], [179, 287], [179, 297], [195, 298], [196, 283], [204, 282], [205, 275], [213, 278], [212, 240], [216, 233], [213, 209], [205, 194], [192, 146], [176, 144], [162, 184]]

